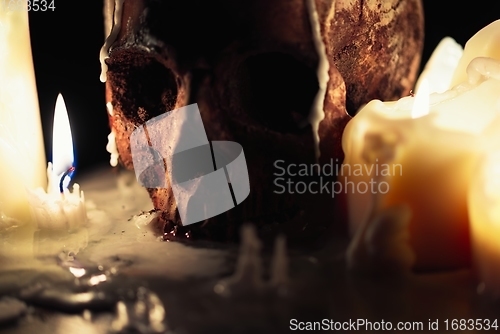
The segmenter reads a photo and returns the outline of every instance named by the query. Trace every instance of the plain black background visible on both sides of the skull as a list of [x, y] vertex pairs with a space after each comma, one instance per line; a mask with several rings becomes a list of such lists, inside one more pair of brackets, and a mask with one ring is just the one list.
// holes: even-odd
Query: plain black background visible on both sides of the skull
[[[500, 19], [500, 1], [423, 0], [423, 64], [445, 36], [465, 42], [479, 29]], [[66, 100], [79, 171], [109, 160], [109, 133], [104, 84], [99, 81], [99, 50], [104, 41], [102, 1], [55, 0], [54, 12], [31, 12], [30, 27], [38, 98], [50, 160], [52, 117], [57, 94]]]

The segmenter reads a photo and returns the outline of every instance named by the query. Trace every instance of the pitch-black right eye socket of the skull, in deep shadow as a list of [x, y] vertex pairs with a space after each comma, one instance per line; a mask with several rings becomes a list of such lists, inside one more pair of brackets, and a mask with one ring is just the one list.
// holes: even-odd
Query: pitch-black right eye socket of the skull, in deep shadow
[[314, 69], [280, 52], [251, 56], [240, 69], [240, 96], [251, 118], [281, 133], [304, 131], [319, 88]]

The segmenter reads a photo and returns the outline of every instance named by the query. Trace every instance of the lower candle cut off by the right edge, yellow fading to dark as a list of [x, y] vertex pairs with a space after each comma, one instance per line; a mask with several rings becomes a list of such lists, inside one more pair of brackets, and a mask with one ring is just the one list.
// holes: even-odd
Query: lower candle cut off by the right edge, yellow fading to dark
[[[500, 106], [499, 106], [500, 112]], [[479, 165], [469, 191], [472, 254], [481, 292], [500, 297], [500, 151]]]

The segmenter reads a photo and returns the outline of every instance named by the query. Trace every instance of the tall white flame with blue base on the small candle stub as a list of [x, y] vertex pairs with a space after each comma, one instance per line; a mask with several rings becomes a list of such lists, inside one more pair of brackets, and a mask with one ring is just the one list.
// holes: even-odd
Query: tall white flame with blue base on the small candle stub
[[[71, 181], [68, 173], [73, 167], [73, 138], [69, 125], [68, 111], [61, 94], [57, 96], [56, 109], [54, 112], [54, 126], [52, 128], [52, 170], [55, 180], [54, 184], [62, 184], [61, 188], [67, 188]], [[59, 189], [58, 189], [59, 191]]]

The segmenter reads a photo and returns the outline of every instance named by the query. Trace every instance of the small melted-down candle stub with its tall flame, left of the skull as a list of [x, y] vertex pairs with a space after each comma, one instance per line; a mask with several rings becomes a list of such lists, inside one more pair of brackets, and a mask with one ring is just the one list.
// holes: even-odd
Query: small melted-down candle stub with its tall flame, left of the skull
[[48, 164], [47, 191], [29, 190], [31, 212], [39, 229], [76, 230], [87, 223], [85, 199], [75, 183], [68, 190], [73, 167], [73, 140], [66, 106], [62, 96], [57, 97], [52, 138], [53, 163]]

